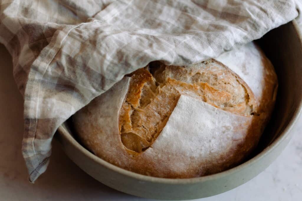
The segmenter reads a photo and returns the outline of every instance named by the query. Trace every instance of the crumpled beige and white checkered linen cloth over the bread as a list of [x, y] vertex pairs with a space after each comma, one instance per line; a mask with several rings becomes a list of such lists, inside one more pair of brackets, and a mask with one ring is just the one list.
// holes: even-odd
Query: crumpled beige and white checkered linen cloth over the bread
[[0, 42], [24, 97], [30, 181], [46, 170], [59, 125], [125, 74], [155, 60], [217, 57], [298, 8], [297, 0], [0, 0]]

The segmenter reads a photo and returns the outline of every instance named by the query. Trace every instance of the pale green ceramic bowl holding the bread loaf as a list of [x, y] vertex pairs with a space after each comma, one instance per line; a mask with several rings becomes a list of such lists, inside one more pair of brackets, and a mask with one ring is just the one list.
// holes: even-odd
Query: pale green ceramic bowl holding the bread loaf
[[205, 177], [165, 179], [133, 173], [98, 158], [72, 136], [68, 121], [57, 137], [66, 154], [89, 175], [116, 190], [153, 199], [196, 199], [231, 190], [255, 177], [273, 162], [291, 139], [302, 105], [302, 45], [296, 21], [267, 33], [259, 44], [276, 68], [279, 89], [273, 117], [259, 146], [243, 164]]

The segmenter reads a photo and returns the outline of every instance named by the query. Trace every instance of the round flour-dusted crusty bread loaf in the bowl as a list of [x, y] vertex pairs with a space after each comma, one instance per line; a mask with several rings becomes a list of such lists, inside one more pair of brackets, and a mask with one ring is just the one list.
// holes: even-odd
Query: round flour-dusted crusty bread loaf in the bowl
[[274, 107], [277, 76], [249, 43], [189, 66], [153, 62], [73, 117], [81, 143], [140, 174], [189, 178], [242, 162]]

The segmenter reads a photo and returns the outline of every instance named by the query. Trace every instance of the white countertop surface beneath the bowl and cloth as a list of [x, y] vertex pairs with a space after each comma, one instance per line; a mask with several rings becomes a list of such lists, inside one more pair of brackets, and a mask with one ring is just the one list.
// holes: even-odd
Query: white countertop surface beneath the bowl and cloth
[[[21, 155], [23, 100], [12, 76], [11, 57], [0, 44], [0, 200], [148, 200], [113, 190], [78, 168], [57, 141], [47, 171], [27, 180]], [[302, 200], [302, 117], [286, 149], [265, 171], [233, 190], [201, 201]]]

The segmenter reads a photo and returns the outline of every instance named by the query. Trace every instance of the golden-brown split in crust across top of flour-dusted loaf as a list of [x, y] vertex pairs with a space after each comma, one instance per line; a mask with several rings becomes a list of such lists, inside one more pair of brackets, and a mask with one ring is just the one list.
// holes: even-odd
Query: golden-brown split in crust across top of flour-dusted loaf
[[188, 67], [149, 64], [129, 74], [119, 114], [121, 141], [131, 154], [148, 149], [165, 127], [180, 95], [237, 115], [259, 115], [249, 87], [214, 59]]

